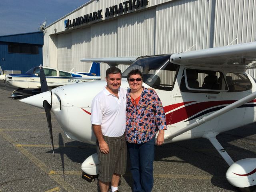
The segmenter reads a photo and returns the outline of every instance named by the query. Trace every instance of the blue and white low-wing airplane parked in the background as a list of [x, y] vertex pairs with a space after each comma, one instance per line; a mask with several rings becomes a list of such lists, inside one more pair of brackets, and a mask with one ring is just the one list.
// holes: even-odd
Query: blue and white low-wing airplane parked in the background
[[[92, 62], [89, 72], [66, 72], [56, 68], [44, 67], [48, 87], [58, 87], [66, 84], [74, 84], [78, 82], [86, 82], [92, 80], [100, 80], [100, 63]], [[21, 93], [14, 93], [24, 88], [35, 89], [33, 93], [41, 92], [39, 66], [31, 68], [25, 74], [9, 74], [4, 75], [0, 67], [0, 80], [4, 80], [8, 84], [18, 87], [12, 92], [12, 98], [20, 98]]]

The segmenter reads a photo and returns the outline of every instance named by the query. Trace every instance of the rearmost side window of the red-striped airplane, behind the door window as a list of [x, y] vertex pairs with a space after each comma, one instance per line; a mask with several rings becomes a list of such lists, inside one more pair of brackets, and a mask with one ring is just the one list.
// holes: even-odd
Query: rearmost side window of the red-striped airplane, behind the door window
[[252, 88], [252, 84], [245, 74], [227, 73], [226, 81], [229, 88], [228, 92], [241, 92]]

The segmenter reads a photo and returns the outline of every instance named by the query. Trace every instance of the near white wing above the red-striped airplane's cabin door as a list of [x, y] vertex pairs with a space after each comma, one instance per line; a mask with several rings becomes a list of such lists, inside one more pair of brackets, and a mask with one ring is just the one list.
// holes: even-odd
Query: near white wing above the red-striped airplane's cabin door
[[256, 42], [175, 53], [170, 60], [180, 65], [256, 68]]

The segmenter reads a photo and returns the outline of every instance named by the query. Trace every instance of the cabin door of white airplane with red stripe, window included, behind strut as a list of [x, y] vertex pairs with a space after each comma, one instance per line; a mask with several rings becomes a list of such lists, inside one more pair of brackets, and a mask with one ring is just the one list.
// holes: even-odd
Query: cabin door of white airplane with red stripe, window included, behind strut
[[[170, 119], [170, 132], [202, 119], [220, 109], [222, 105], [222, 72], [207, 69], [183, 67], [177, 78], [179, 87]], [[218, 127], [219, 118], [202, 124], [173, 140], [202, 137], [205, 133]]]

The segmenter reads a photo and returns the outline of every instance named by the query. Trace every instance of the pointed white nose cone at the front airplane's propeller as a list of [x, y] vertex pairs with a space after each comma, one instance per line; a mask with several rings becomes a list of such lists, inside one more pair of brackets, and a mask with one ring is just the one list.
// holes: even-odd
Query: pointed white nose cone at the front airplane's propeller
[[37, 95], [33, 95], [28, 98], [24, 98], [20, 100], [21, 102], [24, 102], [26, 104], [30, 104], [32, 106], [36, 106], [39, 108], [44, 108], [43, 107], [43, 102], [46, 100], [50, 105], [52, 105], [52, 94], [51, 91], [46, 91]]

